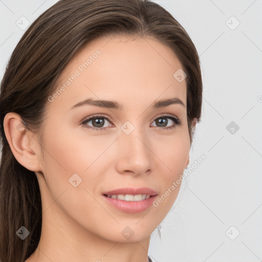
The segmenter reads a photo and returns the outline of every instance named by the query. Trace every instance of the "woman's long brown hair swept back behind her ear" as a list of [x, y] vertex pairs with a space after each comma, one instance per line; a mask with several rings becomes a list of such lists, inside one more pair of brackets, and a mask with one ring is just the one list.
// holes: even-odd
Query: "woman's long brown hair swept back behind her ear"
[[[74, 54], [103, 36], [152, 36], [170, 47], [187, 74], [190, 146], [200, 121], [202, 78], [193, 42], [176, 19], [149, 0], [60, 0], [43, 12], [15, 47], [1, 82], [0, 261], [25, 261], [36, 249], [42, 223], [41, 197], [33, 171], [20, 165], [4, 132], [4, 117], [20, 115], [26, 128], [40, 134], [48, 97]], [[39, 136], [40, 138], [40, 136]], [[39, 140], [41, 145], [41, 140]], [[30, 234], [16, 234], [24, 226]]]

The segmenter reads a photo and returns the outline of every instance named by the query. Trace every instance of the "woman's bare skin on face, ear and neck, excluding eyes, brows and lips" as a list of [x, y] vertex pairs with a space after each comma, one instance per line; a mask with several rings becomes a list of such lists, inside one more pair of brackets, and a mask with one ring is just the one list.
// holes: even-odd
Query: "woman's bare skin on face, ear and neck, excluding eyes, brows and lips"
[[[141, 213], [119, 211], [103, 200], [103, 192], [122, 187], [149, 187], [160, 197], [188, 165], [190, 140], [186, 107], [150, 107], [155, 100], [173, 97], [186, 105], [186, 81], [173, 77], [182, 65], [171, 49], [153, 38], [95, 40], [71, 59], [57, 86], [98, 49], [101, 55], [53, 102], [47, 100], [43, 161], [37, 135], [17, 128], [18, 114], [5, 117], [11, 150], [21, 165], [35, 172], [41, 191], [41, 238], [26, 262], [146, 262], [150, 234], [179, 193], [180, 186], [158, 207]], [[122, 109], [84, 105], [70, 110], [86, 98], [114, 100]], [[113, 121], [104, 119], [102, 131], [81, 124], [95, 114]], [[161, 114], [174, 115], [182, 123], [164, 129], [154, 121]], [[166, 120], [166, 126], [174, 124]], [[120, 128], [126, 121], [135, 127], [129, 135]], [[94, 121], [86, 125], [94, 127]], [[82, 179], [77, 187], [69, 183], [73, 173]], [[134, 231], [129, 239], [121, 234], [126, 226]]]

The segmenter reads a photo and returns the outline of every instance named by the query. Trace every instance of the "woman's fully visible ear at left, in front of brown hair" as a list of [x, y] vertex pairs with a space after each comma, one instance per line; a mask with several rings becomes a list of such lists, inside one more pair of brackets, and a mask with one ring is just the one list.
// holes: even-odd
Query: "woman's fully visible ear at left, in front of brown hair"
[[39, 171], [40, 147], [35, 134], [30, 132], [16, 113], [8, 113], [4, 118], [4, 130], [15, 159], [31, 171]]

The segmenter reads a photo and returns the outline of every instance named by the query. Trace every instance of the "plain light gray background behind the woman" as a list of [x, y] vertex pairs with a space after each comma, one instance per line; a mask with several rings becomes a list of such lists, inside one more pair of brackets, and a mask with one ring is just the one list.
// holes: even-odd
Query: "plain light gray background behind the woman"
[[[0, 0], [1, 80], [26, 30], [16, 21], [32, 23], [56, 2]], [[202, 154], [206, 160], [183, 182], [148, 253], [158, 262], [261, 261], [262, 1], [155, 2], [186, 29], [201, 58], [203, 117], [188, 167]], [[238, 130], [226, 128], [231, 121]]]

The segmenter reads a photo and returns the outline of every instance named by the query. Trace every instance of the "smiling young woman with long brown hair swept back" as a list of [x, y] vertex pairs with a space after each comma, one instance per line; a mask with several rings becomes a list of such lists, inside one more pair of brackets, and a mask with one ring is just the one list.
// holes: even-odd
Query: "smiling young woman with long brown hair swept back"
[[0, 95], [0, 260], [151, 261], [201, 118], [198, 53], [148, 0], [60, 0]]

